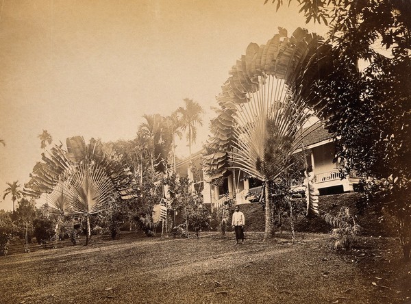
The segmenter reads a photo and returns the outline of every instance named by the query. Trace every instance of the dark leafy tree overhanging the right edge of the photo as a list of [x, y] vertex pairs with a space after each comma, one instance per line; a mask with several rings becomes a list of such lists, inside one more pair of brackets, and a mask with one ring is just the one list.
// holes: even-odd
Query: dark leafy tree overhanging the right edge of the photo
[[[375, 177], [372, 197], [397, 216], [411, 252], [411, 2], [296, 0], [307, 22], [325, 22], [332, 45], [307, 99], [338, 138], [337, 157]], [[266, 1], [267, 2], [267, 1]], [[279, 8], [283, 1], [274, 0]], [[326, 77], [324, 77], [326, 76]]]

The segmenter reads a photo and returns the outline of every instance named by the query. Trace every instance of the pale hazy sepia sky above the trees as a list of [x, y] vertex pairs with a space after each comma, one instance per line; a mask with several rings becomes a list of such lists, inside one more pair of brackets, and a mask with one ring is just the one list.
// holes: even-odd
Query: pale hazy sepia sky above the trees
[[[206, 110], [250, 42], [306, 25], [298, 8], [264, 0], [0, 0], [0, 210], [6, 182], [29, 181], [38, 135], [132, 140], [143, 114], [171, 114], [184, 98]], [[270, 1], [271, 2], [271, 1]], [[296, 2], [296, 1], [294, 1]], [[179, 142], [179, 156], [188, 155]]]

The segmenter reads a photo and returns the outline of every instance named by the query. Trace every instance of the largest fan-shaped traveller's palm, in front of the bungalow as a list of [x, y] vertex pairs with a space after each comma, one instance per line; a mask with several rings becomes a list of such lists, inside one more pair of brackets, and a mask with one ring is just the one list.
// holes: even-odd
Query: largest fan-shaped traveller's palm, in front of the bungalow
[[[266, 45], [247, 47], [217, 97], [220, 109], [210, 127], [214, 136], [205, 157], [207, 170], [216, 177], [227, 167], [239, 168], [264, 181], [264, 240], [273, 234], [269, 185], [292, 166], [290, 155], [301, 147], [301, 130], [315, 114], [304, 97], [310, 94], [310, 64], [321, 55], [320, 46], [315, 34], [299, 28], [288, 38], [279, 28]], [[308, 210], [318, 213], [316, 202], [309, 203], [314, 205]]]

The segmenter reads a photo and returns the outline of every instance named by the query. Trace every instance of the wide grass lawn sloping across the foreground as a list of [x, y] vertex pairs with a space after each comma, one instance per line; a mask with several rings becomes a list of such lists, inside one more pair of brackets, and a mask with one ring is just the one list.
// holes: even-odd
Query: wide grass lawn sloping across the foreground
[[327, 234], [297, 233], [292, 244], [288, 233], [266, 243], [246, 233], [239, 245], [232, 233], [121, 233], [29, 253], [14, 245], [0, 257], [0, 302], [411, 303], [411, 262], [394, 238], [361, 237], [335, 252]]

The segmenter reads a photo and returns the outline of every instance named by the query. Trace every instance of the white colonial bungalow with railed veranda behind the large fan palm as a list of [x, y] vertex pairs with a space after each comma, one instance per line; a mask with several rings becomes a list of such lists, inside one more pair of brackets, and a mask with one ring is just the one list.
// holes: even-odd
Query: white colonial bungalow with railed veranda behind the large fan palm
[[[359, 178], [350, 173], [344, 176], [338, 170], [338, 165], [333, 162], [335, 153], [335, 143], [331, 134], [318, 124], [311, 125], [303, 130], [303, 143], [301, 151], [308, 152], [308, 164], [312, 166], [315, 175], [316, 187], [320, 195], [352, 192], [356, 190]], [[188, 158], [176, 165], [177, 173], [180, 176], [188, 176], [194, 181], [195, 190], [203, 194], [204, 203], [210, 203], [212, 207], [219, 207], [227, 198], [234, 199], [236, 204], [250, 203], [256, 201], [262, 189], [262, 182], [256, 179], [247, 178], [242, 170], [232, 170], [231, 174], [225, 177], [219, 186], [210, 184], [201, 170], [203, 150], [192, 155], [194, 173], [189, 173]], [[292, 181], [292, 187], [302, 186], [303, 181]]]

